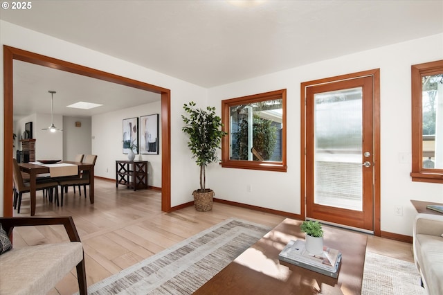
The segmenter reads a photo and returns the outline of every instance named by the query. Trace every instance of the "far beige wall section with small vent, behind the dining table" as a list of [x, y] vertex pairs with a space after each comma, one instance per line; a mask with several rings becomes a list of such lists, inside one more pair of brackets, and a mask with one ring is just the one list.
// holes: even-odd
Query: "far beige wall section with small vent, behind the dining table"
[[[75, 127], [80, 122], [80, 127]], [[55, 125], [57, 126], [57, 125]], [[63, 160], [74, 161], [78, 154], [92, 154], [91, 118], [63, 117]]]

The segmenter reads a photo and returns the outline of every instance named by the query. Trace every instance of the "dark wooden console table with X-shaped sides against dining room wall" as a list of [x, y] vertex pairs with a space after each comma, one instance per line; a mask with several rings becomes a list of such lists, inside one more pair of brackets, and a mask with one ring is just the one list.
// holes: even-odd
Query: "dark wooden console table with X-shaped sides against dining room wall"
[[147, 161], [116, 161], [116, 188], [147, 188]]

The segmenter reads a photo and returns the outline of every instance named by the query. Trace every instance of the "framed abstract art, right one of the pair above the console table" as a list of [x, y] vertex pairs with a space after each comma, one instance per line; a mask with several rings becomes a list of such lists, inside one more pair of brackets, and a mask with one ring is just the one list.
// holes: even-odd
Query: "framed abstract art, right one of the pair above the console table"
[[140, 117], [140, 153], [159, 154], [159, 114]]

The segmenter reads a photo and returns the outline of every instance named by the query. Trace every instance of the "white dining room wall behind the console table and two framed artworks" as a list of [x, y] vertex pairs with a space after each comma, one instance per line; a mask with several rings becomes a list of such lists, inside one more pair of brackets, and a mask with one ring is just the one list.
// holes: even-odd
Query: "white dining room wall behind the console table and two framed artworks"
[[[161, 99], [159, 95], [159, 99]], [[116, 160], [127, 160], [127, 154], [123, 154], [123, 119], [134, 118], [152, 114], [159, 114], [161, 122], [161, 101], [152, 102], [138, 107], [131, 107], [113, 111], [106, 114], [93, 116], [92, 118], [92, 150], [98, 154], [95, 174], [100, 177], [115, 179]], [[140, 123], [139, 123], [140, 124]], [[139, 125], [140, 126], [140, 125]], [[159, 140], [161, 143], [161, 127], [159, 126]], [[159, 154], [137, 154], [136, 160], [148, 161], [148, 186], [161, 188], [161, 144]]]

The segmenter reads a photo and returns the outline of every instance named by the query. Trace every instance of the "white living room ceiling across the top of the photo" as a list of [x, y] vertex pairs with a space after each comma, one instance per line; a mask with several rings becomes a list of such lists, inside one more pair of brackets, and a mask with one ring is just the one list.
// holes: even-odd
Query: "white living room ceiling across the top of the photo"
[[441, 0], [231, 2], [32, 1], [0, 19], [202, 87], [443, 33]]

